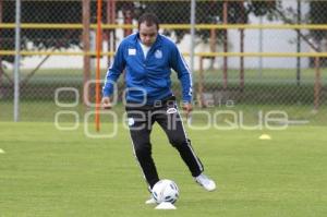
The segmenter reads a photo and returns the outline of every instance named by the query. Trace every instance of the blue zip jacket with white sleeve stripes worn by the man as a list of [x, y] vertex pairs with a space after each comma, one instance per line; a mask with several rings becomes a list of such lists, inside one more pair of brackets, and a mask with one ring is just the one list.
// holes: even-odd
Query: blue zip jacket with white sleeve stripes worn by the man
[[113, 84], [125, 70], [126, 100], [152, 105], [156, 100], [173, 95], [170, 88], [171, 69], [177, 72], [181, 81], [183, 101], [190, 103], [192, 100], [191, 72], [175, 44], [158, 34], [145, 58], [138, 33], [132, 34], [118, 47], [114, 60], [106, 75], [102, 96], [113, 94]]

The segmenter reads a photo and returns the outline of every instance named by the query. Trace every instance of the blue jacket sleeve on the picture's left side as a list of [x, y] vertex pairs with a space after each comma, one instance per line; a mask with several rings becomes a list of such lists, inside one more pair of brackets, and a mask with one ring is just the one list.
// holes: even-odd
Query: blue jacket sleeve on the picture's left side
[[116, 84], [117, 80], [119, 79], [120, 74], [125, 68], [125, 60], [124, 60], [124, 49], [123, 45], [121, 44], [113, 58], [112, 64], [109, 67], [106, 75], [106, 81], [102, 87], [102, 97], [111, 96], [113, 94], [113, 85]]

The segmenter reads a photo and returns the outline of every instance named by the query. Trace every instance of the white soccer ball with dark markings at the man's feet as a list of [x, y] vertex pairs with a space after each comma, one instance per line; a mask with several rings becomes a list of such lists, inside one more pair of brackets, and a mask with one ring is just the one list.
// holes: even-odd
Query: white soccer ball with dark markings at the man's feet
[[158, 204], [162, 202], [173, 204], [177, 202], [179, 195], [179, 188], [173, 181], [168, 179], [158, 181], [153, 188], [153, 196]]

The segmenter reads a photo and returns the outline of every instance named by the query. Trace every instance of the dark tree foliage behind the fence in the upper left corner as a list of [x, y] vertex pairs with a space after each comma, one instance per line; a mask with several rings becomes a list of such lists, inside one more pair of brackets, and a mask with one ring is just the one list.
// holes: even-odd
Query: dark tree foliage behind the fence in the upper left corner
[[[15, 3], [2, 1], [2, 22], [15, 22]], [[78, 1], [22, 1], [22, 23], [81, 23], [82, 3]], [[21, 49], [43, 50], [62, 49], [78, 46], [82, 29], [26, 29], [21, 32]], [[31, 46], [31, 43], [33, 46]], [[0, 48], [14, 49], [14, 29], [0, 32]], [[13, 56], [3, 56], [2, 60], [13, 62]]]

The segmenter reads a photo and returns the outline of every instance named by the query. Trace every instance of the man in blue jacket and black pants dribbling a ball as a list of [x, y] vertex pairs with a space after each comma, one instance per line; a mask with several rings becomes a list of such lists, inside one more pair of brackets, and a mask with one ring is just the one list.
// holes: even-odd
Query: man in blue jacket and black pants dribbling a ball
[[[207, 191], [214, 191], [216, 184], [203, 174], [203, 165], [185, 134], [170, 88], [170, 74], [173, 69], [182, 84], [182, 109], [187, 117], [192, 111], [191, 72], [175, 44], [158, 34], [158, 17], [153, 13], [145, 13], [138, 19], [138, 33], [122, 40], [107, 72], [102, 89], [102, 107], [111, 108], [113, 83], [125, 70], [130, 134], [134, 154], [149, 190], [159, 181], [150, 143], [152, 126], [157, 122], [181, 155], [195, 181]], [[150, 198], [146, 203], [152, 204], [155, 201]]]

